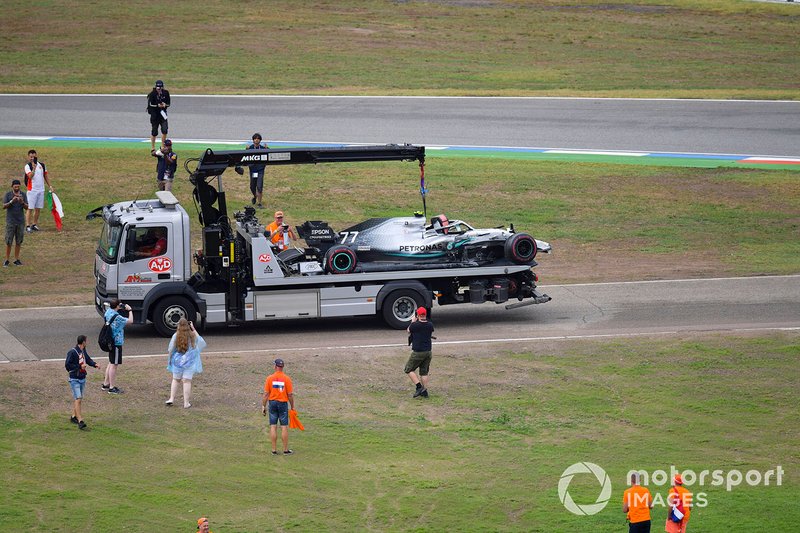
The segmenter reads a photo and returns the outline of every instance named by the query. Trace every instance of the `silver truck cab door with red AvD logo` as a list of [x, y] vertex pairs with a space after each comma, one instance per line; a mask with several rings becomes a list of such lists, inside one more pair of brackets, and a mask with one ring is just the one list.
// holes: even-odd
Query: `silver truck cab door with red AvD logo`
[[183, 280], [182, 240], [171, 222], [128, 226], [119, 265], [119, 297], [141, 301], [157, 284]]

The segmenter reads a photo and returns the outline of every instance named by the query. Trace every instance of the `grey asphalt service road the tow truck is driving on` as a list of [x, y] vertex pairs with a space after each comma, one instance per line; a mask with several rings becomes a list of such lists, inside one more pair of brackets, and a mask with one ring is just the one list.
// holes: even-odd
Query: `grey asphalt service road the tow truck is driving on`
[[[549, 303], [507, 311], [492, 303], [433, 308], [437, 344], [535, 349], [543, 339], [800, 330], [800, 275], [543, 286]], [[0, 310], [0, 361], [63, 361], [72, 339], [93, 345], [102, 320], [90, 306]], [[208, 355], [404, 349], [406, 334], [377, 318], [294, 320], [208, 328]], [[163, 357], [151, 326], [131, 326], [125, 356]], [[91, 350], [90, 353], [96, 353]]]

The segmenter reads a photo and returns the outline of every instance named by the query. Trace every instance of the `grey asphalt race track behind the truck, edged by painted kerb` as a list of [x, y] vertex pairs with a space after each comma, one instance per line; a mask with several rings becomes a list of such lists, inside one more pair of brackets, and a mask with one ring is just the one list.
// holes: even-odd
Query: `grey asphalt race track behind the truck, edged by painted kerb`
[[[0, 136], [143, 138], [142, 95], [0, 95]], [[183, 96], [171, 135], [800, 157], [800, 102]]]

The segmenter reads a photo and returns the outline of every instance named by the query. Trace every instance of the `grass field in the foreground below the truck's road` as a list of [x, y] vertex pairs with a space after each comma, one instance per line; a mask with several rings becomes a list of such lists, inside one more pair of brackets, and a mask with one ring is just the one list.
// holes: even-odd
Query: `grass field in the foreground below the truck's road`
[[[272, 457], [263, 357], [209, 356], [191, 411], [163, 405], [164, 361], [131, 360], [124, 396], [87, 385], [69, 423], [58, 363], [0, 372], [4, 531], [625, 531], [625, 474], [766, 472], [782, 485], [691, 487], [694, 531], [800, 523], [796, 333], [437, 347], [431, 398], [411, 398], [404, 349], [286, 354], [305, 432]], [[10, 368], [8, 368], [10, 367]], [[113, 458], [113, 459], [112, 459]], [[612, 482], [590, 517], [557, 485], [590, 461]], [[774, 481], [774, 478], [773, 478]], [[666, 487], [651, 485], [663, 498]], [[594, 503], [577, 476], [570, 494]], [[653, 511], [654, 531], [663, 508]]]

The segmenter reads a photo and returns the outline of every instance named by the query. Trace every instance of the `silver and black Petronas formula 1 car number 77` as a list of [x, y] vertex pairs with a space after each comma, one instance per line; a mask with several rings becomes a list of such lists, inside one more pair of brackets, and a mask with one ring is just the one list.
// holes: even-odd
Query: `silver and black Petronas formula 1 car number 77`
[[475, 229], [444, 215], [430, 222], [422, 215], [371, 218], [336, 234], [325, 222], [297, 227], [300, 237], [319, 251], [322, 267], [332, 274], [475, 267], [536, 265], [538, 252], [550, 244], [508, 229]]

